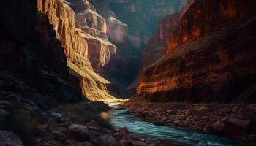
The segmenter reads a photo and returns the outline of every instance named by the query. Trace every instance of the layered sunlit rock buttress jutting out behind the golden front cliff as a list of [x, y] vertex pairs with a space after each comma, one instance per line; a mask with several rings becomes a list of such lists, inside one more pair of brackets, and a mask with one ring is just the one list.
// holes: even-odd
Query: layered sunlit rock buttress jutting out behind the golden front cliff
[[94, 6], [86, 0], [68, 0], [69, 6], [75, 11], [77, 28], [80, 28], [89, 45], [88, 58], [95, 70], [108, 64], [110, 55], [116, 53], [116, 46], [108, 41], [107, 25], [94, 9]]

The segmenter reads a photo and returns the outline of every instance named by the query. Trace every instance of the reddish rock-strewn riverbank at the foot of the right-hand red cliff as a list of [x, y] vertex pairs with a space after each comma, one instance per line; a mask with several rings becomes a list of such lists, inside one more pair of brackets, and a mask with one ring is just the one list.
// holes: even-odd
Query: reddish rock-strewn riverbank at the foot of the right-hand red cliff
[[207, 134], [256, 140], [255, 104], [142, 103], [127, 106], [136, 117], [156, 125], [184, 126]]

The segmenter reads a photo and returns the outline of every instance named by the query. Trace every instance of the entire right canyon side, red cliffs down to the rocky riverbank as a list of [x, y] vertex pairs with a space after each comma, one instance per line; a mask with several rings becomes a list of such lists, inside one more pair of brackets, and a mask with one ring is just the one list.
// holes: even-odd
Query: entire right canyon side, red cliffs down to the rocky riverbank
[[123, 105], [157, 126], [255, 140], [256, 3], [187, 2], [160, 21]]

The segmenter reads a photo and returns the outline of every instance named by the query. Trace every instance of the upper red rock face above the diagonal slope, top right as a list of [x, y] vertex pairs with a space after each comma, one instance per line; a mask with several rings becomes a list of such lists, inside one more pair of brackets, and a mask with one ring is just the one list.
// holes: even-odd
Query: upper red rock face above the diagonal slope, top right
[[[253, 1], [196, 1], [184, 15], [168, 43], [167, 52], [191, 39], [203, 37], [246, 15]], [[247, 14], [248, 15], [248, 14]]]

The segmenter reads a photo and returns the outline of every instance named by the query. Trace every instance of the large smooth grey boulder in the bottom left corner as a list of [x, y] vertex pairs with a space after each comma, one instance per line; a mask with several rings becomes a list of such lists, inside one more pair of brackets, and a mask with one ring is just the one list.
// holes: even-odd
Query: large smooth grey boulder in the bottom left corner
[[0, 146], [23, 146], [20, 137], [11, 131], [0, 130]]

